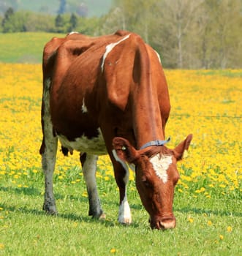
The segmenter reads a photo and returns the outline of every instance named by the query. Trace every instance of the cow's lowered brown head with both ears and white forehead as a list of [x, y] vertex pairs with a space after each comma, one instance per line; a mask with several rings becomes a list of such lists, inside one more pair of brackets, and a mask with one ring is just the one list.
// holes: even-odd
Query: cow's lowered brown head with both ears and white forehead
[[135, 164], [136, 187], [143, 206], [150, 214], [151, 228], [175, 227], [173, 195], [179, 179], [176, 162], [182, 159], [191, 140], [192, 135], [188, 135], [173, 150], [165, 146], [136, 150], [124, 138], [113, 139], [113, 147], [118, 157], [122, 161]]

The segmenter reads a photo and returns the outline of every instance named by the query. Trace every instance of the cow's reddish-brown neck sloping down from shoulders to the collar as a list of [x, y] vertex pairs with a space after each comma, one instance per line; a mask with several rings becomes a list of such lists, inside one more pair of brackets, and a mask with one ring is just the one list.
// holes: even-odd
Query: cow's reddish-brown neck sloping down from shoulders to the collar
[[156, 74], [151, 75], [151, 58], [145, 44], [140, 44], [138, 48], [137, 55], [140, 61], [137, 65], [137, 74], [140, 74], [140, 79], [137, 79], [133, 94], [133, 115], [135, 139], [137, 148], [140, 148], [149, 141], [164, 140], [164, 133], [156, 89]]

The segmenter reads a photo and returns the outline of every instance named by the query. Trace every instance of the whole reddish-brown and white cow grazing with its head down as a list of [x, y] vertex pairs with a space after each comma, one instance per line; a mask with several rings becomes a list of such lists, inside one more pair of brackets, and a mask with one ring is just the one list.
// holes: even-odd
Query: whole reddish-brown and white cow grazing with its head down
[[137, 34], [53, 38], [43, 53], [43, 209], [56, 214], [53, 171], [57, 140], [68, 154], [80, 151], [89, 215], [103, 217], [96, 184], [97, 156], [109, 154], [120, 192], [118, 222], [132, 222], [126, 185], [129, 165], [152, 228], [175, 227], [176, 162], [192, 140], [164, 144], [170, 100], [159, 55]]

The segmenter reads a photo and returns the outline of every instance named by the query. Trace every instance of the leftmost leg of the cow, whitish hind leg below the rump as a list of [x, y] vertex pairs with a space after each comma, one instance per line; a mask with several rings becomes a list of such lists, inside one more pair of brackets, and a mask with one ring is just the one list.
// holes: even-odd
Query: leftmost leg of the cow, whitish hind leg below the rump
[[49, 103], [50, 80], [45, 81], [42, 99], [42, 132], [43, 140], [40, 148], [42, 155], [42, 170], [45, 175], [45, 200], [43, 210], [48, 214], [57, 214], [53, 195], [53, 172], [56, 165], [57, 138], [53, 135], [53, 126], [50, 119]]

